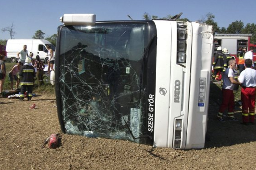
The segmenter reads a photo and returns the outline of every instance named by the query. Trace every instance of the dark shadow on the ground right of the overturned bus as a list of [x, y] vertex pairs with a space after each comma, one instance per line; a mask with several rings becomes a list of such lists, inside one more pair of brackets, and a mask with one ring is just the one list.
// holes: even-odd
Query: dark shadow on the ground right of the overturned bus
[[[241, 88], [241, 87], [239, 87]], [[240, 96], [240, 95], [239, 95]], [[235, 99], [235, 117], [239, 121], [219, 122], [216, 118], [219, 105], [222, 102], [222, 91], [217, 83], [211, 82], [208, 112], [208, 130], [205, 148], [232, 146], [240, 143], [256, 141], [256, 125], [242, 125], [242, 112], [238, 99]], [[225, 117], [224, 117], [225, 119]]]

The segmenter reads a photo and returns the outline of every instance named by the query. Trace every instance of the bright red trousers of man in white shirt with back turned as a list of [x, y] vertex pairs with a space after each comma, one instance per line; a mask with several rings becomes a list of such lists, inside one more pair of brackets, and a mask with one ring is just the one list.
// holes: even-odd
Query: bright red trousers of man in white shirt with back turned
[[[255, 108], [255, 87], [242, 87], [242, 117], [244, 123], [254, 123], [254, 108]], [[249, 108], [249, 112], [248, 112]]]

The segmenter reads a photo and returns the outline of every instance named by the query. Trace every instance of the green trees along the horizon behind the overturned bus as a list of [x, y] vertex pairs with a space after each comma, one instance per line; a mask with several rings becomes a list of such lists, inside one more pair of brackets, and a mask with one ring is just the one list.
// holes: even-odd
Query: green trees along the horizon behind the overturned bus
[[[148, 13], [144, 13], [142, 19], [151, 20], [151, 19], [175, 19], [178, 21], [190, 21], [188, 18], [181, 18], [182, 13], [177, 14], [175, 16], [167, 15], [166, 17], [158, 18], [156, 15], [149, 15]], [[130, 16], [129, 16], [130, 17]], [[131, 18], [131, 17], [130, 17]], [[213, 26], [213, 30], [215, 33], [220, 34], [252, 34], [251, 43], [256, 44], [256, 24], [255, 23], [247, 23], [244, 26], [244, 23], [241, 20], [236, 20], [231, 22], [227, 28], [219, 27], [218, 23], [214, 21], [215, 16], [212, 13], [207, 13], [202, 16], [202, 18], [198, 19], [199, 23], [206, 23], [208, 25]], [[131, 18], [132, 19], [132, 18]], [[4, 27], [1, 29], [2, 32], [8, 32], [10, 34], [10, 39], [14, 38], [16, 32], [14, 31], [14, 24], [12, 23], [9, 27]], [[46, 39], [53, 45], [56, 45], [57, 34], [53, 34], [51, 36], [45, 37], [45, 33], [42, 30], [37, 30], [35, 34], [32, 36], [32, 39]], [[6, 45], [7, 39], [0, 39], [1, 45]]]

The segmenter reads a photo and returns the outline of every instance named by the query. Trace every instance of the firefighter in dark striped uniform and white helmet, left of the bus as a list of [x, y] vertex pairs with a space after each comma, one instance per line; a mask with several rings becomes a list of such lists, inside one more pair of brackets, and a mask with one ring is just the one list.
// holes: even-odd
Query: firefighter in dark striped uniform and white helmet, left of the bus
[[26, 57], [25, 64], [20, 69], [19, 77], [21, 78], [20, 85], [22, 86], [20, 89], [19, 100], [24, 100], [26, 89], [28, 90], [27, 98], [28, 100], [31, 100], [34, 86], [35, 69], [31, 65], [30, 57]]

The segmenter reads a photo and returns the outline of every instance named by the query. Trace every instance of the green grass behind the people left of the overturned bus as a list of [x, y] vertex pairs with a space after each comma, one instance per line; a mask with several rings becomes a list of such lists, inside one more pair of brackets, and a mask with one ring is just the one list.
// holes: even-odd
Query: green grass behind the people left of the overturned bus
[[[5, 62], [5, 66], [6, 66], [6, 78], [3, 84], [3, 90], [10, 90], [11, 89], [11, 82], [9, 79], [9, 72], [12, 70], [13, 66], [16, 65], [16, 63], [9, 63], [9, 62]], [[33, 92], [40, 95], [40, 94], [55, 94], [55, 86], [51, 85], [51, 83], [46, 83], [45, 81], [46, 76], [44, 75], [44, 85], [42, 85], [40, 88], [38, 87], [38, 83], [37, 80], [35, 80], [35, 85], [33, 88]], [[14, 80], [14, 88], [15, 88], [15, 83], [16, 81]]]

